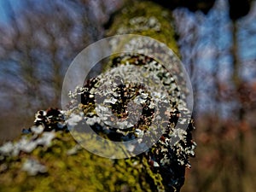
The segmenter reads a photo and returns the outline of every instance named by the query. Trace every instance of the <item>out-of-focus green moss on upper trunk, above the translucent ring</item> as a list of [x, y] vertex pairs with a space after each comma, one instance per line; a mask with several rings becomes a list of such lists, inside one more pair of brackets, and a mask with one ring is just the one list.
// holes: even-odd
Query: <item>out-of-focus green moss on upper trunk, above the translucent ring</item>
[[[148, 20], [150, 18], [155, 18], [158, 23], [160, 23], [160, 30], [154, 29], [154, 26], [148, 26], [146, 30], [143, 30], [143, 27], [141, 27], [142, 30], [139, 30], [140, 27], [137, 27], [139, 23], [134, 26], [131, 25], [131, 20], [138, 17], [143, 17]], [[145, 23], [142, 22], [141, 25], [145, 26]], [[134, 29], [135, 26], [137, 29]], [[120, 10], [119, 13], [114, 16], [113, 25], [108, 30], [107, 35], [112, 36], [120, 33], [120, 28], [125, 28], [125, 33], [155, 38], [161, 43], [166, 44], [174, 51], [174, 53], [179, 55], [177, 39], [175, 38], [175, 31], [172, 22], [172, 13], [170, 10], [164, 9], [158, 4], [148, 1], [128, 1], [125, 5], [125, 9]]]

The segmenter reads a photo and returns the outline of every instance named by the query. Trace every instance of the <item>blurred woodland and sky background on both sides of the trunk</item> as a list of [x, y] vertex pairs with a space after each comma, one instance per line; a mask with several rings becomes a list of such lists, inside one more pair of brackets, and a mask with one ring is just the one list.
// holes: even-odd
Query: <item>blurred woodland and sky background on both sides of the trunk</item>
[[[198, 147], [182, 191], [253, 192], [256, 2], [184, 2], [165, 4], [173, 9], [195, 99]], [[0, 1], [0, 143], [31, 126], [38, 109], [61, 108], [67, 67], [82, 49], [104, 37], [110, 15], [123, 3]]]

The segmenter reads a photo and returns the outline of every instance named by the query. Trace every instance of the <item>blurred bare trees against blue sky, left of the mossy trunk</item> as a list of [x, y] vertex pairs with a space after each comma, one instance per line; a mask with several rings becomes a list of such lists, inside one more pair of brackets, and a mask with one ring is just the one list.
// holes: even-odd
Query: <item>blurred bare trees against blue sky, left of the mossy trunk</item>
[[[38, 108], [60, 108], [67, 67], [81, 49], [102, 37], [102, 28], [90, 1], [26, 0], [20, 9], [9, 1], [4, 5], [10, 20], [0, 26], [1, 107], [5, 110], [1, 118], [13, 119], [8, 127], [19, 132], [22, 127], [15, 126], [31, 125], [28, 122]], [[7, 123], [1, 125], [1, 136], [8, 138], [10, 131], [4, 127]]]

